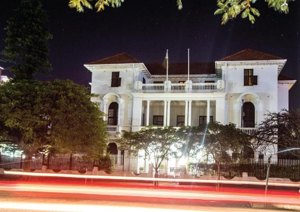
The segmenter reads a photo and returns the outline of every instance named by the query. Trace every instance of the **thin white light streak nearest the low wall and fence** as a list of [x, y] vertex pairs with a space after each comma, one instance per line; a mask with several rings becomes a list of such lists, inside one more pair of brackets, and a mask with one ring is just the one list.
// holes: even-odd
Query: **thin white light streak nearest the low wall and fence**
[[[88, 178], [88, 179], [106, 179], [106, 180], [144, 180], [144, 181], [163, 181], [163, 182], [185, 182], [185, 183], [225, 183], [225, 184], [247, 184], [247, 185], [262, 185], [265, 186], [265, 181], [240, 181], [240, 180], [203, 180], [203, 179], [165, 179], [152, 177], [121, 177], [121, 176], [100, 176], [100, 175], [81, 175], [81, 174], [55, 174], [55, 173], [36, 173], [36, 172], [22, 172], [22, 171], [4, 171], [4, 174], [16, 174], [39, 177], [74, 177], [74, 178]], [[269, 186], [287, 186], [298, 187], [299, 183], [283, 183], [283, 182], [269, 182]]]

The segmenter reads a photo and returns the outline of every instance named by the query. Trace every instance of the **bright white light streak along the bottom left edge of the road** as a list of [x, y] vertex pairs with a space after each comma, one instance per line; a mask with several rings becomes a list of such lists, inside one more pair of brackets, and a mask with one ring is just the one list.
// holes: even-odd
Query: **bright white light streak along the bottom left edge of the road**
[[[47, 203], [20, 203], [20, 202], [0, 202], [2, 209], [16, 210], [46, 210], [46, 211], [122, 211], [122, 212], [195, 212], [196, 210], [146, 208], [146, 207], [125, 207], [90, 204], [47, 204]], [[197, 210], [199, 211], [199, 210]], [[202, 212], [210, 212], [201, 210]], [[199, 212], [201, 212], [199, 211]]]

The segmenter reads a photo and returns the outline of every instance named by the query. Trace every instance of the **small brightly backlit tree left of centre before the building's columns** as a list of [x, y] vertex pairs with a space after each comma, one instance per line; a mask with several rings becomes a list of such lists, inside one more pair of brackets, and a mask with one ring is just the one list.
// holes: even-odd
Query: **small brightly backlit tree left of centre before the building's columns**
[[121, 148], [130, 153], [138, 154], [144, 150], [155, 169], [155, 178], [164, 159], [175, 155], [179, 145], [182, 144], [186, 128], [181, 127], [145, 127], [137, 132], [122, 131], [122, 137], [118, 140]]

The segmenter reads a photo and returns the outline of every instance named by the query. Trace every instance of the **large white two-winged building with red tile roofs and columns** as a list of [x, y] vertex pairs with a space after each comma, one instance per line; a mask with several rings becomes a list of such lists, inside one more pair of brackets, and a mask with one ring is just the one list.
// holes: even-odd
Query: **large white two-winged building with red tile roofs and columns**
[[92, 72], [91, 92], [99, 94], [92, 101], [101, 102], [111, 135], [148, 125], [198, 126], [212, 121], [235, 123], [251, 133], [267, 111], [289, 107], [288, 92], [296, 80], [280, 75], [285, 63], [286, 59], [246, 49], [215, 62], [190, 63], [189, 76], [187, 63], [171, 63], [168, 80], [162, 64], [144, 64], [127, 53], [85, 67]]

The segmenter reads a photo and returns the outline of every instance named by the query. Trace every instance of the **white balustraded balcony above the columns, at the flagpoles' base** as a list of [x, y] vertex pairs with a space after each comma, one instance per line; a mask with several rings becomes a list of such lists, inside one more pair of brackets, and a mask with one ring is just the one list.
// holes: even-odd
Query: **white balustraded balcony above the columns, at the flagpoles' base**
[[141, 81], [135, 81], [134, 88], [137, 92], [143, 93], [164, 93], [164, 92], [217, 92], [223, 91], [224, 81], [217, 80], [217, 83], [147, 83], [143, 84]]

